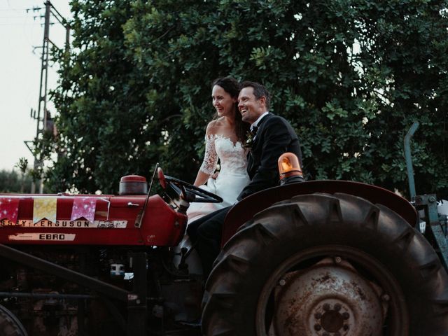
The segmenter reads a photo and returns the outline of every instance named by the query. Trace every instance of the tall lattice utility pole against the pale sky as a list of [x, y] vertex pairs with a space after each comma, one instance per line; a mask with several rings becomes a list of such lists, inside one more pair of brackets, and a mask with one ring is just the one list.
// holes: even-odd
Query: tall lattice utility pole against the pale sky
[[[50, 15], [52, 18], [55, 18], [61, 25], [63, 25], [66, 29], [66, 40], [65, 40], [65, 49], [69, 50], [69, 37], [70, 37], [70, 27], [65, 18], [56, 10], [50, 1], [45, 1], [45, 23], [43, 25], [43, 43], [42, 43], [42, 57], [41, 57], [41, 83], [39, 85], [39, 99], [38, 99], [38, 108], [37, 113], [33, 109], [31, 109], [31, 118], [37, 121], [36, 127], [36, 138], [37, 141], [41, 134], [48, 130], [48, 116], [49, 112], [47, 109], [47, 92], [48, 92], [48, 58], [50, 51]], [[57, 47], [57, 45], [55, 45]], [[41, 158], [38, 158], [38, 155], [34, 153], [31, 146], [34, 141], [25, 141], [25, 145], [27, 145], [29, 151], [34, 155], [34, 172], [42, 172], [43, 169], [43, 161]], [[31, 145], [31, 146], [30, 146]], [[38, 179], [37, 181], [33, 181], [31, 184], [31, 193], [36, 193], [36, 187], [38, 187], [38, 193], [43, 193], [43, 182], [42, 179]]]

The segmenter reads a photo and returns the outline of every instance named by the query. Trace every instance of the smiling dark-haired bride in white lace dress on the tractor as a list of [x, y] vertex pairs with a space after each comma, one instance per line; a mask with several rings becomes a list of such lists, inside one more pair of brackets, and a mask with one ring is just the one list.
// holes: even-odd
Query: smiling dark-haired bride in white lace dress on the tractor
[[[207, 125], [204, 161], [194, 184], [221, 196], [224, 201], [191, 204], [187, 212], [188, 223], [237, 202], [237, 196], [250, 181], [246, 172], [247, 150], [244, 148], [249, 125], [241, 120], [237, 108], [239, 83], [230, 77], [218, 78], [211, 87], [216, 116]], [[218, 160], [221, 169], [214, 174]]]

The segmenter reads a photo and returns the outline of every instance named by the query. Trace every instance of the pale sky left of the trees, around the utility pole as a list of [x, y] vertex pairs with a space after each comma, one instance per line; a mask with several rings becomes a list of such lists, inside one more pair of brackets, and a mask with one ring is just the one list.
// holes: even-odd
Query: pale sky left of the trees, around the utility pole
[[[69, 0], [50, 2], [64, 18], [71, 18]], [[36, 137], [37, 122], [30, 110], [38, 109], [44, 14], [43, 0], [0, 0], [0, 170], [13, 169], [20, 158], [27, 158], [31, 167], [34, 163], [24, 141]], [[50, 22], [50, 40], [63, 48], [65, 29], [55, 18]], [[57, 83], [57, 66], [50, 66], [49, 89]], [[54, 111], [51, 104], [47, 107]]]

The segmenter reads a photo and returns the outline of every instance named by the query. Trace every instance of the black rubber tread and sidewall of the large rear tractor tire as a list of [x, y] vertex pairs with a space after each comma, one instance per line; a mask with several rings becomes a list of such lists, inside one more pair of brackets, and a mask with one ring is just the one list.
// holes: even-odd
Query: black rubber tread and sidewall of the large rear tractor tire
[[[335, 236], [335, 244], [374, 255], [402, 281], [412, 274], [402, 285], [405, 294], [412, 296], [409, 300], [416, 306], [417, 297], [424, 295], [421, 304], [425, 308], [409, 304], [416, 315], [410, 318], [409, 335], [423, 332], [435, 336], [447, 330], [448, 277], [428, 241], [381, 204], [342, 193], [316, 193], [295, 196], [260, 211], [225, 244], [206, 283], [203, 335], [227, 335], [220, 332], [233, 330], [232, 335], [255, 336], [255, 327], [248, 322], [255, 321], [254, 302], [258, 302], [263, 281], [288, 256], [277, 254], [294, 253], [297, 244], [313, 244], [309, 239], [333, 239], [325, 230]], [[329, 237], [319, 237], [322, 235]], [[400, 260], [391, 258], [395, 255]], [[422, 311], [424, 316], [419, 316]]]

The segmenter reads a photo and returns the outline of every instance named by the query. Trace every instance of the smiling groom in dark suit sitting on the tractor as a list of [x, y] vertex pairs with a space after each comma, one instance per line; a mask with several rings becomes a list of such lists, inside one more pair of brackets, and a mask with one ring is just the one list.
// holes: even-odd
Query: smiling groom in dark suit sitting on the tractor
[[[240, 85], [238, 109], [242, 120], [251, 124], [252, 148], [248, 154], [247, 173], [251, 182], [241, 191], [238, 201], [257, 191], [279, 185], [277, 160], [286, 152], [302, 153], [293, 127], [283, 118], [269, 113], [270, 95], [266, 88], [255, 82]], [[204, 277], [208, 277], [212, 265], [221, 251], [221, 233], [227, 207], [200, 218], [188, 225], [188, 235], [196, 244], [202, 260]]]

